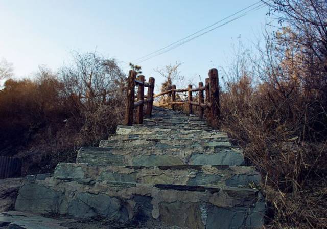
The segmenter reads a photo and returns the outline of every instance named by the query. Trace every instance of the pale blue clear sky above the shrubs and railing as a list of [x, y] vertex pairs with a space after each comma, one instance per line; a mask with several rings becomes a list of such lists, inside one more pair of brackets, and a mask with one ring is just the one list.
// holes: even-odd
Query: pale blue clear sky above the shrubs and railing
[[[165, 47], [258, 0], [0, 0], [0, 58], [16, 78], [32, 77], [39, 65], [53, 71], [71, 61], [72, 51], [97, 51], [128, 63]], [[167, 53], [139, 63], [146, 79], [154, 70], [183, 63], [185, 79], [202, 81], [210, 68], [227, 64], [232, 45], [260, 37], [268, 7], [253, 11]], [[231, 19], [231, 18], [229, 18]], [[225, 21], [224, 21], [225, 22]], [[220, 24], [217, 24], [220, 25]], [[133, 62], [137, 63], [137, 61]], [[219, 68], [218, 68], [219, 69]]]

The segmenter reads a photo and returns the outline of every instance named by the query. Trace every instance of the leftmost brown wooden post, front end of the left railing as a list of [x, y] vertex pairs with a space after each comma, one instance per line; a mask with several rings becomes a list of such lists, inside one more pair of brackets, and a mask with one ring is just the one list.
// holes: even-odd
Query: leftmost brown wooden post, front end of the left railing
[[133, 112], [135, 100], [135, 78], [137, 72], [130, 70], [128, 73], [127, 97], [124, 124], [127, 126], [133, 125]]

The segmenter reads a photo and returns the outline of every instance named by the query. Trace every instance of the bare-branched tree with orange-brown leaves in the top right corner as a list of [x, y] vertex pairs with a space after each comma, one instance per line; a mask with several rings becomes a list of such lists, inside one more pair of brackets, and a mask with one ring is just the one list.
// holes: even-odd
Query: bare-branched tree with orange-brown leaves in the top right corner
[[327, 2], [274, 0], [270, 6], [283, 26], [274, 37], [275, 51], [289, 66], [296, 65], [303, 86], [322, 89], [327, 81]]

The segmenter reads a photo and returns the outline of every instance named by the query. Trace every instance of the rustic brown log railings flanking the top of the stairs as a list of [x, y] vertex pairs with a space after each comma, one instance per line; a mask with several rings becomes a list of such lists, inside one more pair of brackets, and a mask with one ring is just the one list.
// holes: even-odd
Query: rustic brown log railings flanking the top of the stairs
[[[153, 100], [156, 97], [171, 94], [171, 101], [168, 103], [160, 104], [159, 106], [171, 106], [175, 110], [176, 105], [188, 104], [189, 114], [193, 114], [193, 106], [199, 107], [199, 117], [204, 118], [204, 110], [206, 109], [207, 115], [211, 116], [212, 120], [218, 124], [220, 117], [220, 105], [219, 105], [219, 78], [217, 69], [209, 70], [209, 78], [205, 79], [205, 85], [199, 82], [199, 87], [192, 88], [189, 85], [185, 89], [176, 89], [175, 85], [172, 85], [171, 90], [163, 91], [154, 95], [154, 78], [150, 77], [149, 82], [144, 81], [144, 76], [138, 76], [136, 80], [137, 72], [131, 70], [128, 74], [128, 88], [127, 88], [127, 103], [125, 111], [125, 125], [133, 125], [134, 108], [137, 107], [136, 123], [143, 123], [143, 106], [146, 107], [146, 115], [151, 116]], [[137, 101], [135, 102], [135, 85], [138, 85]], [[148, 87], [148, 95], [144, 95], [144, 87]], [[193, 101], [193, 92], [199, 92], [198, 101]], [[205, 95], [204, 95], [205, 91]], [[188, 92], [188, 101], [175, 101], [176, 93]]]

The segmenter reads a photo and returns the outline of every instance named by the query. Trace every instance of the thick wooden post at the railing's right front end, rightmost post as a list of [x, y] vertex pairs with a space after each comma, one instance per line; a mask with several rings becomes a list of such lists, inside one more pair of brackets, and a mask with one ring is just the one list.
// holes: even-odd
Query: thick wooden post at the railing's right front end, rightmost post
[[220, 118], [218, 70], [209, 70], [211, 113], [217, 124]]

